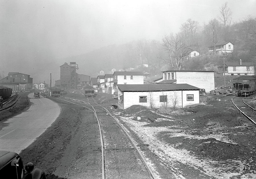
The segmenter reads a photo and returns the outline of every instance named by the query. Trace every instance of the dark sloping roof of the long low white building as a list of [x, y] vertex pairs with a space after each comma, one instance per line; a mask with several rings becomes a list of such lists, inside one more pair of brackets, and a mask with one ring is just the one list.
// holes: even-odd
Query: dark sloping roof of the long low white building
[[188, 84], [144, 84], [144, 85], [117, 85], [121, 91], [174, 91], [199, 90], [200, 88]]

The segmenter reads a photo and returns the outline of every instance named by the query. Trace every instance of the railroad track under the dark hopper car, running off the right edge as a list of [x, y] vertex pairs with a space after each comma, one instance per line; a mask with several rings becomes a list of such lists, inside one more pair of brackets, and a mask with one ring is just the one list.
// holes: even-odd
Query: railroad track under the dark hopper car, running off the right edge
[[248, 120], [243, 120], [248, 127], [256, 129], [256, 109], [244, 101], [245, 97], [235, 96], [232, 103]]

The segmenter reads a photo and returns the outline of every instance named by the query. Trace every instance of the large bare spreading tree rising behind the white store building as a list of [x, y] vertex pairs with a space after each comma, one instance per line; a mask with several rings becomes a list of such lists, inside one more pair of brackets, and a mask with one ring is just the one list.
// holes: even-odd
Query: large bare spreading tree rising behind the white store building
[[183, 62], [187, 60], [188, 52], [192, 50], [192, 46], [185, 45], [180, 34], [173, 35], [172, 33], [169, 36], [164, 36], [163, 46], [168, 53], [168, 58], [159, 58], [165, 64], [172, 66], [174, 70], [181, 70]]

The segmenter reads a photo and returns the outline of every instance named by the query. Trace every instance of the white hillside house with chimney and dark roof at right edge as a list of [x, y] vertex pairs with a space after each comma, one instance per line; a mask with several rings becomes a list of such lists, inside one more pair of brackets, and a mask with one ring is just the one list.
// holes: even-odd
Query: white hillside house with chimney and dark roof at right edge
[[[251, 62], [242, 62], [240, 59], [239, 62], [225, 62], [224, 65], [225, 75], [254, 75], [255, 68]], [[223, 74], [223, 65], [218, 67], [218, 74]]]

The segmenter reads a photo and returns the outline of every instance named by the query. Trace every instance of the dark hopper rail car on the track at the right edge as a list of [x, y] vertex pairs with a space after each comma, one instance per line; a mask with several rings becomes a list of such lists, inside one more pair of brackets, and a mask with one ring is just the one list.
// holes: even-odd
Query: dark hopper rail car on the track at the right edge
[[255, 76], [240, 76], [233, 79], [234, 92], [237, 96], [249, 96], [256, 92]]

